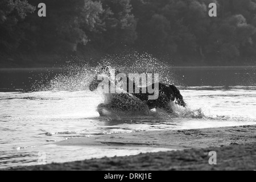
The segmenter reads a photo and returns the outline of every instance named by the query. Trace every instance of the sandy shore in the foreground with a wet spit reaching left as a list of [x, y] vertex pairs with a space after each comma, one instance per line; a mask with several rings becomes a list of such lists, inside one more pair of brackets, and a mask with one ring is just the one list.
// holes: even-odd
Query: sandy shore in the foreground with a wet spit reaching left
[[[56, 142], [61, 146], [141, 146], [170, 148], [155, 152], [114, 158], [90, 159], [9, 170], [255, 170], [256, 125], [195, 130], [144, 131], [73, 138]], [[217, 165], [210, 165], [209, 152], [216, 151]]]

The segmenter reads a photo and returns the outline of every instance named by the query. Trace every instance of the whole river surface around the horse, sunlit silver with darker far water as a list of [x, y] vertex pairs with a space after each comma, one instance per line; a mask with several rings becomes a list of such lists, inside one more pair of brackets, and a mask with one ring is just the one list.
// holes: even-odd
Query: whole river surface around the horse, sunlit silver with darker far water
[[163, 117], [99, 117], [96, 107], [104, 98], [98, 93], [18, 92], [28, 90], [41, 78], [42, 82], [51, 80], [59, 73], [58, 69], [0, 69], [0, 168], [38, 164], [39, 151], [46, 152], [47, 163], [51, 163], [167, 150], [53, 144], [73, 137], [256, 123], [254, 68], [171, 69], [175, 73], [174, 84], [181, 85], [179, 88], [189, 105], [186, 109], [175, 107], [179, 118], [164, 114]]

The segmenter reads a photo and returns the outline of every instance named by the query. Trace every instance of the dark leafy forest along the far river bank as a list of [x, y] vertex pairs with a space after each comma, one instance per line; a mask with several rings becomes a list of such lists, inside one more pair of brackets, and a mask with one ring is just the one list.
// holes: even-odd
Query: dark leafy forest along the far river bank
[[255, 27], [256, 0], [1, 0], [0, 68], [134, 52], [181, 66], [256, 65]]

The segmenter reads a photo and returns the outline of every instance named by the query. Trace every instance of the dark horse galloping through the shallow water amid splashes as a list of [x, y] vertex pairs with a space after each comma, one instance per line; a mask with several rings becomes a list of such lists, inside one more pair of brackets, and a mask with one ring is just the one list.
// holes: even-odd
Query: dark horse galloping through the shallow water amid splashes
[[[110, 67], [104, 67], [101, 69], [102, 73], [109, 73], [110, 71]], [[115, 75], [117, 75], [119, 73], [119, 71], [115, 71]], [[183, 96], [180, 93], [180, 90], [177, 89], [177, 87], [175, 85], [168, 85], [168, 84], [164, 84], [161, 82], [155, 83], [159, 85], [159, 94], [158, 97], [155, 100], [150, 100], [148, 99], [149, 96], [154, 96], [154, 93], [150, 93], [148, 92], [148, 89], [146, 89], [146, 93], [142, 93], [142, 87], [139, 87], [138, 85], [135, 85], [135, 81], [131, 81], [129, 77], [127, 78], [127, 90], [126, 93], [122, 93], [119, 94], [118, 97], [123, 97], [126, 100], [129, 100], [128, 98], [130, 98], [130, 100], [133, 100], [135, 102], [138, 103], [139, 101], [142, 101], [144, 104], [147, 105], [148, 109], [164, 109], [166, 111], [168, 111], [168, 113], [174, 113], [174, 111], [171, 109], [170, 107], [170, 102], [175, 102], [175, 104], [186, 107], [187, 104], [184, 102], [183, 100]], [[98, 85], [102, 82], [102, 80], [98, 80], [98, 77], [94, 77], [94, 79], [90, 82], [89, 85], [89, 90], [90, 91], [94, 91], [98, 88]], [[129, 93], [129, 83], [133, 82], [133, 93]], [[150, 85], [152, 89], [155, 88], [155, 84]], [[109, 85], [110, 85], [110, 81], [109, 81]], [[147, 87], [148, 88], [148, 87]], [[135, 90], [138, 89], [139, 93], [135, 93]], [[117, 94], [117, 93], [115, 93]], [[125, 110], [126, 106], [124, 103], [119, 103], [121, 100], [118, 99], [118, 101], [116, 101], [117, 99], [114, 99], [115, 101], [112, 102], [112, 105], [110, 107], [117, 107], [119, 110]], [[135, 106], [135, 104], [132, 106], [134, 108], [137, 108], [136, 110], [143, 110], [144, 107], [142, 106], [142, 102], [139, 102], [138, 105], [139, 107]], [[99, 107], [102, 107], [103, 105], [101, 104]], [[109, 106], [109, 105], [108, 105]], [[142, 107], [140, 107], [142, 106]], [[99, 109], [98, 109], [99, 110]]]

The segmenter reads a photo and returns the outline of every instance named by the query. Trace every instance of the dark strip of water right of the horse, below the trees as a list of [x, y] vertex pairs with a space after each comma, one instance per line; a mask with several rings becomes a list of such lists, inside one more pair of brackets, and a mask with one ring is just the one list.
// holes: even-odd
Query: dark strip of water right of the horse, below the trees
[[181, 67], [174, 73], [184, 86], [256, 85], [256, 67]]

